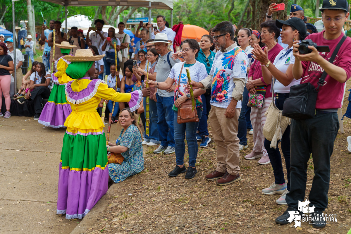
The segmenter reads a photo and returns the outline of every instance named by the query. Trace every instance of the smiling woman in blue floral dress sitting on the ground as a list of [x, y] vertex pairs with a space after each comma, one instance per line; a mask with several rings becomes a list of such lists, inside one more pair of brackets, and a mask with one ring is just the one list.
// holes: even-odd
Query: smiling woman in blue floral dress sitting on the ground
[[137, 125], [138, 116], [129, 108], [119, 113], [118, 123], [123, 127], [116, 144], [108, 142], [107, 151], [120, 153], [124, 160], [121, 164], [109, 163], [108, 175], [113, 182], [119, 183], [127, 177], [144, 170], [141, 130]]

